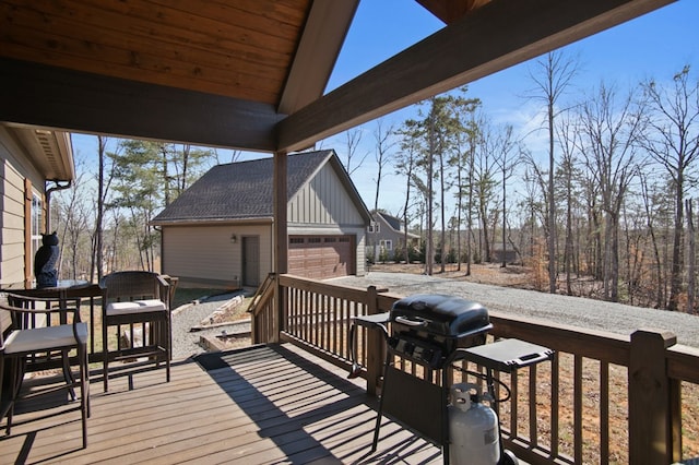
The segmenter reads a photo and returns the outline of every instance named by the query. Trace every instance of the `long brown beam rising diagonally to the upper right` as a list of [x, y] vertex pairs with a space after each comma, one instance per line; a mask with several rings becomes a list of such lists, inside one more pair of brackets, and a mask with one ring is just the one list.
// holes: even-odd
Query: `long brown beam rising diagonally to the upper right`
[[673, 1], [493, 0], [286, 118], [277, 150], [307, 147]]

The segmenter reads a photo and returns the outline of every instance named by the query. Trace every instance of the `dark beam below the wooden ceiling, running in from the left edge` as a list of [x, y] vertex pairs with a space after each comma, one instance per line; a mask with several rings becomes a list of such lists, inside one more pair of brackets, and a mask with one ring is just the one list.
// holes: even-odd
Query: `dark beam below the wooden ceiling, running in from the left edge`
[[273, 152], [272, 105], [0, 58], [0, 121]]

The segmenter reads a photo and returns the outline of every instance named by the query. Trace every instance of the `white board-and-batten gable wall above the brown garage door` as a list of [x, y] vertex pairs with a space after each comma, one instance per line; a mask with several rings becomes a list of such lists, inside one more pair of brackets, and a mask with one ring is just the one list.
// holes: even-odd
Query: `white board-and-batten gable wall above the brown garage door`
[[356, 274], [366, 273], [366, 225], [330, 164], [288, 201], [289, 235], [353, 235], [356, 237]]

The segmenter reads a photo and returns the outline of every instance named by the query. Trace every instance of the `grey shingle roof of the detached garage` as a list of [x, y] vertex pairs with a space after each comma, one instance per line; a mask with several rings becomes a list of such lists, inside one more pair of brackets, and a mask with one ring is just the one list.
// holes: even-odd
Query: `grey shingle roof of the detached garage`
[[[288, 155], [287, 198], [291, 199], [332, 155], [331, 150]], [[273, 158], [214, 166], [163, 210], [153, 223], [271, 218], [273, 176]]]

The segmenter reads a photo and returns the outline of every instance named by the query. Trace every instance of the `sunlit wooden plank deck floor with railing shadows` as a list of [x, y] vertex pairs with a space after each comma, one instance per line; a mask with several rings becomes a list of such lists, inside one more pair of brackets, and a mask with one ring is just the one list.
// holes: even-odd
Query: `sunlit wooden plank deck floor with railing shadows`
[[20, 405], [0, 463], [441, 463], [438, 448], [388, 419], [370, 453], [376, 410], [364, 381], [306, 351], [286, 344], [211, 361], [175, 363], [170, 383], [164, 370], [139, 373], [131, 391], [126, 377], [108, 394], [93, 379], [85, 450], [79, 412], [40, 418], [66, 406]]

